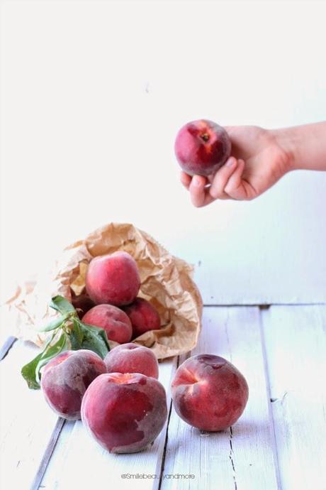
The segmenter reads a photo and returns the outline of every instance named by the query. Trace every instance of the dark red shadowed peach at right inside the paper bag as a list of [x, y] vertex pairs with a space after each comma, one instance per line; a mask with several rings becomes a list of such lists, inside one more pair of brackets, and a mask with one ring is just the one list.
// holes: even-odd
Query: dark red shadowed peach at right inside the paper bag
[[158, 330], [161, 327], [157, 310], [147, 300], [136, 298], [131, 305], [125, 306], [123, 310], [133, 325], [133, 338], [148, 332], [148, 330]]

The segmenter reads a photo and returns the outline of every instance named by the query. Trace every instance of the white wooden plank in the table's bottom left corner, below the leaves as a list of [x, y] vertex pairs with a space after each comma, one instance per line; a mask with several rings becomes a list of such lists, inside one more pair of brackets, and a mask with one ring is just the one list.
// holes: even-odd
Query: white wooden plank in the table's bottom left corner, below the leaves
[[0, 363], [1, 489], [30, 488], [57, 423], [42, 393], [29, 390], [21, 376], [21, 367], [37, 352], [18, 340]]

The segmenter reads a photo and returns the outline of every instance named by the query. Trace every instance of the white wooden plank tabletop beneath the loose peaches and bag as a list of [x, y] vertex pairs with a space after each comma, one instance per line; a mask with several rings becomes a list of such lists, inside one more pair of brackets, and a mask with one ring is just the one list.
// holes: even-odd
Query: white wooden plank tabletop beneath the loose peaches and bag
[[[245, 374], [245, 413], [201, 432], [169, 398], [167, 425], [137, 454], [108, 454], [80, 421], [58, 419], [21, 378], [34, 348], [18, 340], [0, 362], [0, 488], [325, 490], [325, 330], [326, 305], [205, 307], [191, 354], [225, 356]], [[160, 363], [168, 397], [185, 357]]]

